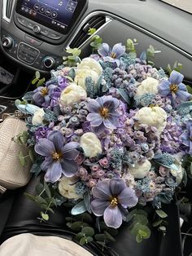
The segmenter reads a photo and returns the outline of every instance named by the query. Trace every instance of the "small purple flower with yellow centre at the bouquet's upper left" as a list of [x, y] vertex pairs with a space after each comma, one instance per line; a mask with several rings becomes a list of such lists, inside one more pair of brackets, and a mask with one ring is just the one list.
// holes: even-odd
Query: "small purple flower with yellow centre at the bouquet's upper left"
[[57, 86], [39, 86], [36, 90], [34, 90], [33, 100], [40, 107], [49, 107], [50, 105], [50, 95], [52, 90], [54, 90]]

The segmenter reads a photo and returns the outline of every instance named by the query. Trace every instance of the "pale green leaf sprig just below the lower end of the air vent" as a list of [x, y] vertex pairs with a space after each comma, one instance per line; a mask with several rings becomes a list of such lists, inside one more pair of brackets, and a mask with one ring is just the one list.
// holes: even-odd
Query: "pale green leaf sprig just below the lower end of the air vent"
[[[81, 50], [78, 48], [68, 48], [66, 50], [68, 53], [68, 56], [63, 56], [63, 64], [67, 65], [69, 67], [74, 67], [76, 66], [77, 63], [81, 62], [80, 55], [81, 55]], [[70, 77], [70, 76], [69, 76]]]

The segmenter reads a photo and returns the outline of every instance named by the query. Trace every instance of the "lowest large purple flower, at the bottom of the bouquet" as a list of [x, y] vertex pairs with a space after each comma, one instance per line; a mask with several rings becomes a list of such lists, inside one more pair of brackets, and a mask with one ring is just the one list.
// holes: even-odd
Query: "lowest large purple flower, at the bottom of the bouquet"
[[103, 216], [108, 227], [118, 228], [128, 207], [137, 205], [137, 196], [123, 179], [105, 179], [92, 189], [94, 200], [91, 210], [96, 216]]

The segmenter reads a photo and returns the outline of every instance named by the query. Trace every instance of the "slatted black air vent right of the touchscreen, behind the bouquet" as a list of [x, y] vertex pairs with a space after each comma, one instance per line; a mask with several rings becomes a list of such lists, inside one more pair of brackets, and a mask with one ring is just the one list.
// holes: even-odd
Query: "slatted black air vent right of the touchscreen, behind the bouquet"
[[107, 23], [107, 19], [103, 15], [94, 15], [91, 17], [76, 33], [75, 37], [72, 38], [72, 42], [69, 44], [71, 48], [80, 47], [89, 38], [89, 28], [100, 29], [104, 24]]

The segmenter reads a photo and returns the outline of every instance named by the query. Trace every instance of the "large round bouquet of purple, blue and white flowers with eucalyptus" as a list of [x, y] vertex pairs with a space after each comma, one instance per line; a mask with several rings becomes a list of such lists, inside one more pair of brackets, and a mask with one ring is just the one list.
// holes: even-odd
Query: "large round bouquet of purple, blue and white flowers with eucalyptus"
[[28, 132], [18, 139], [31, 148], [31, 171], [45, 174], [39, 195], [27, 196], [44, 210], [41, 220], [49, 219], [52, 205], [68, 203], [74, 216], [68, 227], [81, 245], [93, 241], [97, 227], [82, 221], [74, 228], [76, 216], [96, 219], [98, 233], [106, 228], [105, 241], [123, 221], [138, 242], [148, 238], [149, 204], [158, 217], [154, 226], [164, 232], [161, 205], [172, 201], [185, 177], [192, 95], [181, 73], [154, 68], [145, 52], [137, 57], [134, 45], [129, 39], [111, 49], [99, 42], [97, 54], [83, 60], [80, 50], [69, 49], [49, 81], [36, 73], [37, 89], [15, 102], [27, 114]]

